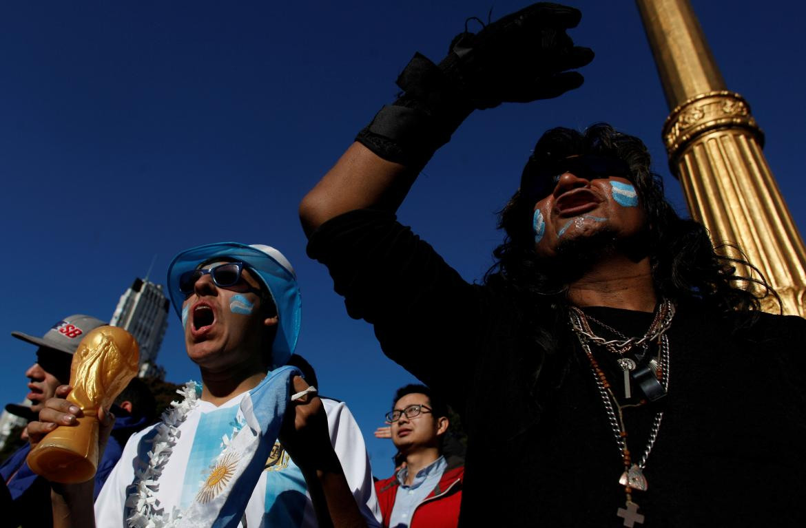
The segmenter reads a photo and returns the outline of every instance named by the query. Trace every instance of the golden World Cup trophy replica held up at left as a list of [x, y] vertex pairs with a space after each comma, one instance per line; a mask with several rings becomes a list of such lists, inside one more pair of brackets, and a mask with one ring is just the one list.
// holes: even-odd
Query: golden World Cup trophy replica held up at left
[[123, 328], [102, 326], [89, 332], [73, 356], [67, 400], [83, 416], [76, 426], [60, 426], [28, 454], [31, 469], [48, 481], [89, 481], [98, 468], [98, 409], [108, 408], [137, 374], [139, 346]]

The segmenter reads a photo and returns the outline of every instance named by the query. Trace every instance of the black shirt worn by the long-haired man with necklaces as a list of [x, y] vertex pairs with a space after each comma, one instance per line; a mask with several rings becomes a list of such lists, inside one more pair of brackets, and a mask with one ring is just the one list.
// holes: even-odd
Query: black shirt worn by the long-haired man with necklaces
[[[554, 388], [536, 393], [539, 354], [521, 339], [513, 299], [465, 282], [391, 214], [331, 219], [308, 252], [328, 266], [349, 314], [374, 325], [384, 353], [462, 415], [460, 526], [623, 526], [621, 454], [578, 345], [564, 351], [563, 377], [547, 380]], [[586, 311], [627, 335], [652, 319]], [[633, 495], [645, 528], [806, 526], [806, 320], [760, 314], [751, 328], [736, 326], [730, 314], [690, 305], [667, 332], [669, 394], [644, 471], [649, 487]], [[659, 408], [625, 410], [635, 461]]]

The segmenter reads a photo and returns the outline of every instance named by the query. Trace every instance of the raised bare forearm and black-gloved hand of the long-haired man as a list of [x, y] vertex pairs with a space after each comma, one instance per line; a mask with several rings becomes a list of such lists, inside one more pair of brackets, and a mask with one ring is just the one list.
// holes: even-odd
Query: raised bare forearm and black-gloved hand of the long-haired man
[[593, 58], [566, 30], [580, 11], [536, 3], [451, 42], [439, 64], [416, 54], [397, 79], [404, 91], [384, 106], [322, 180], [305, 196], [305, 233], [343, 212], [395, 212], [419, 171], [475, 109], [557, 97], [582, 84]]

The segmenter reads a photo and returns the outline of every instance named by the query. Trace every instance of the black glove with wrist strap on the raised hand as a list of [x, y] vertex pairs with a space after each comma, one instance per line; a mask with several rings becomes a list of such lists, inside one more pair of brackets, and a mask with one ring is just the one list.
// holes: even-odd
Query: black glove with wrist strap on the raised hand
[[580, 68], [593, 59], [566, 30], [579, 10], [537, 3], [508, 14], [478, 34], [451, 42], [439, 65], [415, 54], [397, 79], [403, 95], [384, 106], [356, 141], [383, 159], [424, 166], [474, 109], [502, 102], [557, 97], [582, 85]]

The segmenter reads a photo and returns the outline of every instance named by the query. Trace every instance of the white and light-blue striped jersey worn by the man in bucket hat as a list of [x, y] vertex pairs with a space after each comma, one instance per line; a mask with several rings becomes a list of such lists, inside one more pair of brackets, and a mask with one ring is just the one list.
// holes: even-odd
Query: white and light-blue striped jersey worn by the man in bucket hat
[[[239, 394], [221, 406], [199, 401], [179, 427], [179, 437], [159, 478], [154, 495], [165, 513], [174, 507], [184, 510], [198, 493], [210, 464], [222, 451], [222, 436], [231, 437], [236, 427], [239, 403], [247, 393]], [[368, 526], [380, 526], [380, 508], [372, 483], [364, 437], [355, 418], [343, 402], [322, 398], [330, 430], [330, 442], [339, 456], [347, 484]], [[131, 508], [126, 499], [135, 481], [138, 459], [147, 462], [147, 452], [154, 427], [132, 435], [123, 455], [110, 473], [95, 501], [95, 521], [99, 528], [127, 526]], [[260, 475], [244, 514], [249, 528], [282, 526], [309, 528], [317, 526], [313, 504], [305, 486], [305, 477], [279, 443], [275, 443], [266, 468]], [[243, 525], [242, 525], [243, 526]]]

